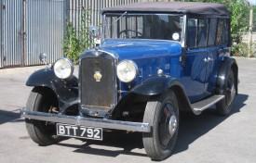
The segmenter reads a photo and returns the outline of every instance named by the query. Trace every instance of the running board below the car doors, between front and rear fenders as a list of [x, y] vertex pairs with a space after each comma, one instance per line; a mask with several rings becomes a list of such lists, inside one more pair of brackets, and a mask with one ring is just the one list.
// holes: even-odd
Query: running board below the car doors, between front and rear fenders
[[194, 108], [195, 111], [203, 111], [203, 110], [215, 105], [216, 103], [221, 101], [224, 97], [225, 97], [224, 95], [213, 95], [207, 99], [196, 102], [196, 103], [192, 104], [191, 106]]

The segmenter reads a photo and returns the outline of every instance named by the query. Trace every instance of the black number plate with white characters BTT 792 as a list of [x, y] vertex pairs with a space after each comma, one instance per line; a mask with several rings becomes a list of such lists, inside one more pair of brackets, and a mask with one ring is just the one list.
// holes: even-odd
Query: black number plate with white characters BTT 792
[[61, 124], [61, 123], [57, 123], [56, 127], [57, 127], [57, 134], [60, 136], [102, 140], [101, 128], [75, 126], [75, 125]]

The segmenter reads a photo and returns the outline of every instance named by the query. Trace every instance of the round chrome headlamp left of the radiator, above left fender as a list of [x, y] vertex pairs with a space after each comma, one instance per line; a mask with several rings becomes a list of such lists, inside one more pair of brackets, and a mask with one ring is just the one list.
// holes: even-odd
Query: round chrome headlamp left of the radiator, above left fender
[[54, 63], [53, 70], [58, 78], [67, 79], [74, 72], [74, 64], [70, 59], [62, 57]]

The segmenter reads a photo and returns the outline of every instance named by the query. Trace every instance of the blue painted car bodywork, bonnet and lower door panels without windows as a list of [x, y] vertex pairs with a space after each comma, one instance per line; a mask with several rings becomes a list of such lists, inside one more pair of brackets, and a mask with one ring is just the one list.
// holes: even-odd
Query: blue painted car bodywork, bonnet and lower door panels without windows
[[[137, 64], [139, 74], [132, 81], [132, 87], [157, 76], [157, 70], [163, 69], [166, 76], [181, 81], [191, 103], [214, 94], [225, 54], [219, 52], [219, 47], [184, 52], [181, 44], [166, 40], [106, 40], [99, 49], [117, 55], [119, 61], [130, 59]], [[185, 66], [182, 66], [182, 56], [185, 56]], [[208, 57], [212, 60], [205, 62], [204, 58]], [[122, 82], [122, 90], [128, 93], [128, 83]]]

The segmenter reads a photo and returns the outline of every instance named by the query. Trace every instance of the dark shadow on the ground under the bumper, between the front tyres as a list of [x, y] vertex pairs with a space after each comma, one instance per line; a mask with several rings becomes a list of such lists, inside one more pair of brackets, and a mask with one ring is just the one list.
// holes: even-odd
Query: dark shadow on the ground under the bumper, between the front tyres
[[[130, 155], [147, 157], [145, 153], [133, 152], [133, 149], [143, 148], [141, 141], [141, 133], [120, 133], [120, 132], [104, 132], [103, 141], [93, 141], [93, 140], [81, 140], [85, 144], [57, 144], [66, 147], [76, 148], [74, 152], [76, 153], [86, 153], [96, 156], [105, 157], [117, 157], [119, 155]], [[97, 147], [95, 147], [97, 145]], [[111, 150], [106, 149], [107, 147], [115, 147]]]

